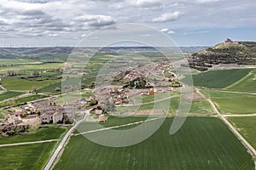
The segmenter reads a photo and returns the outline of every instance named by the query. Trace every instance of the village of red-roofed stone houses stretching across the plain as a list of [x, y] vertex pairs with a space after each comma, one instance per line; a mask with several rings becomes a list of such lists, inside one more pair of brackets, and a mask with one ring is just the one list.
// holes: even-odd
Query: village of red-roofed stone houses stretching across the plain
[[[88, 108], [97, 122], [106, 122], [104, 114], [112, 113], [112, 109], [109, 109], [112, 105], [137, 105], [134, 98], [138, 95], [170, 93], [173, 88], [180, 88], [181, 84], [170, 68], [171, 65], [167, 61], [135, 65], [125, 71], [119, 71], [112, 77], [113, 82], [118, 85], [90, 89], [95, 95], [89, 97], [73, 99], [64, 104], [55, 103], [60, 97], [50, 97], [4, 108], [9, 114], [0, 119], [0, 133], [3, 136], [26, 133], [29, 127], [51, 123], [72, 125]], [[144, 115], [144, 112], [141, 114]], [[159, 112], [163, 114], [162, 111]]]

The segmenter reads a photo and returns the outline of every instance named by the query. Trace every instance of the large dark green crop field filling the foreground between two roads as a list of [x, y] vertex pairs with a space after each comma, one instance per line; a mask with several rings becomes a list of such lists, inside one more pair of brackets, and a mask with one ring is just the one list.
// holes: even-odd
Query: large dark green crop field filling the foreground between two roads
[[254, 169], [252, 156], [218, 118], [188, 117], [170, 135], [172, 120], [167, 118], [151, 137], [128, 147], [111, 148], [73, 136], [54, 169]]

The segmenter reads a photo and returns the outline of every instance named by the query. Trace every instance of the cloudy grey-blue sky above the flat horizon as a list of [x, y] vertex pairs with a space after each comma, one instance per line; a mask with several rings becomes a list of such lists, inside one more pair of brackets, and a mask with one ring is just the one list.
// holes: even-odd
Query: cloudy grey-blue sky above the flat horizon
[[178, 46], [212, 46], [227, 37], [256, 41], [255, 0], [0, 2], [1, 47], [76, 46], [95, 31], [125, 23], [152, 27]]

